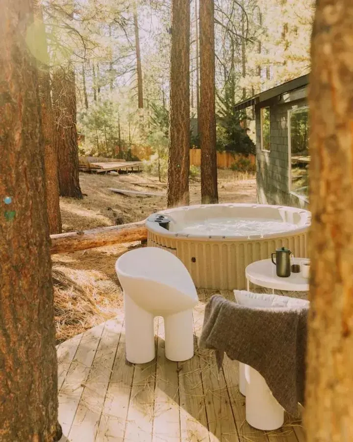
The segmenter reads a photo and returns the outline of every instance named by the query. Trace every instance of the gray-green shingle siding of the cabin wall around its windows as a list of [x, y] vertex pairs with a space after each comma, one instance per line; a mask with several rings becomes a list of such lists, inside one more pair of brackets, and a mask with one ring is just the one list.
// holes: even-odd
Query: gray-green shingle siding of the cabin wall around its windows
[[278, 104], [277, 99], [262, 106], [270, 107], [271, 152], [261, 150], [260, 106], [255, 106], [257, 200], [262, 204], [279, 204], [307, 208], [308, 203], [289, 193], [288, 111], [306, 106], [305, 99]]

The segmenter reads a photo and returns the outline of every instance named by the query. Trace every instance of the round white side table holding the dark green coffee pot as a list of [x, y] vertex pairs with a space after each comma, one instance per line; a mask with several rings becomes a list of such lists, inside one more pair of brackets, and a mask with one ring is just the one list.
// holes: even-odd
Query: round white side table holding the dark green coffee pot
[[[301, 265], [308, 262], [307, 258], [294, 258], [294, 263]], [[291, 260], [291, 264], [292, 264]], [[247, 289], [249, 291], [249, 283], [259, 285], [275, 290], [288, 290], [295, 292], [307, 292], [309, 290], [309, 280], [304, 278], [302, 272], [291, 273], [288, 277], [280, 277], [276, 275], [276, 266], [271, 259], [262, 259], [249, 264], [245, 269], [247, 278]]]

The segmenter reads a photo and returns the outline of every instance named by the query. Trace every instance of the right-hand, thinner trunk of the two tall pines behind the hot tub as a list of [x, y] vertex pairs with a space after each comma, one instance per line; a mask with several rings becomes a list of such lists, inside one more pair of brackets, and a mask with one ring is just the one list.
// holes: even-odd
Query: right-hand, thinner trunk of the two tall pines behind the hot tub
[[201, 200], [218, 203], [214, 3], [200, 1], [200, 133], [201, 133]]

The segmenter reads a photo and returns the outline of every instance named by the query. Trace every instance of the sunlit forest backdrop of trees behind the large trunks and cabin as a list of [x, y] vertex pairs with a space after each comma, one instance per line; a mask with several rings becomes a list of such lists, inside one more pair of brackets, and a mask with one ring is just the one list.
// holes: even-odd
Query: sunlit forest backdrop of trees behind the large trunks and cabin
[[[191, 1], [190, 147], [200, 147], [198, 1]], [[54, 115], [59, 124], [62, 95], [75, 88], [80, 155], [134, 160], [158, 152], [167, 161], [170, 10], [168, 0], [43, 3]], [[313, 14], [314, 1], [215, 1], [218, 150], [254, 152], [252, 112], [236, 113], [234, 104], [309, 72]]]

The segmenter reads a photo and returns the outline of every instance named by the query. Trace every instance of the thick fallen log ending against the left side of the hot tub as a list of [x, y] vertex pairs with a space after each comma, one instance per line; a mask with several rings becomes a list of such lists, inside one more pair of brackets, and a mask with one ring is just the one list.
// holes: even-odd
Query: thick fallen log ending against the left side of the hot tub
[[147, 240], [145, 221], [130, 224], [99, 227], [92, 230], [50, 235], [50, 253], [66, 253], [76, 250], [95, 249], [113, 244]]

